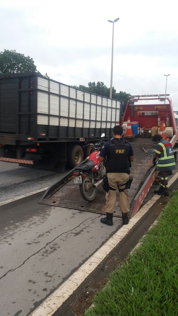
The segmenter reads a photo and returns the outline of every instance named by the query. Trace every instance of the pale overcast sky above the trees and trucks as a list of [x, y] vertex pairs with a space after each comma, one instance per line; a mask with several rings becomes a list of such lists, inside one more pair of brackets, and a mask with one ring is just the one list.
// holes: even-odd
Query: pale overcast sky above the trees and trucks
[[102, 81], [130, 94], [167, 93], [178, 110], [176, 0], [0, 2], [0, 51], [15, 49], [69, 85]]

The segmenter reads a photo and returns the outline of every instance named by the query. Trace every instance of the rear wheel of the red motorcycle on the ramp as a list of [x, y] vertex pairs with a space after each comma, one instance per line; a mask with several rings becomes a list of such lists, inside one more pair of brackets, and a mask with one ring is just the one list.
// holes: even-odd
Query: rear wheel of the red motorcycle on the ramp
[[82, 184], [79, 185], [79, 189], [80, 194], [85, 201], [91, 202], [94, 200], [96, 196], [96, 188], [93, 188], [92, 178], [90, 176], [82, 178]]

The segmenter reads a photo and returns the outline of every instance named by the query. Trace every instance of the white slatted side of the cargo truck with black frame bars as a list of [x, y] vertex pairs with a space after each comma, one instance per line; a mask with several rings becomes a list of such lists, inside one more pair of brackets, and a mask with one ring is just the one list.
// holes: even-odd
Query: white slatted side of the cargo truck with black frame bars
[[[120, 121], [120, 101], [37, 78], [37, 124], [50, 125], [49, 132], [63, 137], [100, 138], [112, 136], [112, 128]], [[53, 126], [53, 127], [52, 127]], [[57, 128], [59, 126], [59, 128]], [[46, 129], [45, 131], [48, 132]]]

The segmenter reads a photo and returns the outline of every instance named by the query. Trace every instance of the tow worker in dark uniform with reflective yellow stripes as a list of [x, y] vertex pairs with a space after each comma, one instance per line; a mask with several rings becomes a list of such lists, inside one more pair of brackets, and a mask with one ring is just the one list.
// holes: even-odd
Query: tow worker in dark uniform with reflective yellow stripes
[[153, 142], [157, 144], [155, 150], [155, 157], [153, 163], [155, 164], [157, 157], [157, 171], [161, 172], [161, 185], [154, 193], [159, 195], [169, 195], [168, 176], [171, 170], [175, 169], [175, 158], [173, 154], [172, 144], [161, 137], [161, 135], [154, 135]]

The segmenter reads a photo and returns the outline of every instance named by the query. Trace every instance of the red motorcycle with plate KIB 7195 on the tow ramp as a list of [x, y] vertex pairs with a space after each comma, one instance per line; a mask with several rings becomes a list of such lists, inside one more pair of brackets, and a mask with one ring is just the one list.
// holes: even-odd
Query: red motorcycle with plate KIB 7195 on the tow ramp
[[[102, 134], [101, 137], [104, 137]], [[80, 194], [85, 201], [91, 202], [96, 196], [97, 186], [103, 181], [106, 175], [106, 169], [103, 161], [99, 161], [100, 150], [105, 142], [100, 141], [94, 144], [87, 144], [95, 149], [89, 157], [86, 164], [76, 167], [73, 176], [74, 183], [79, 185]], [[86, 147], [83, 146], [83, 147]]]

